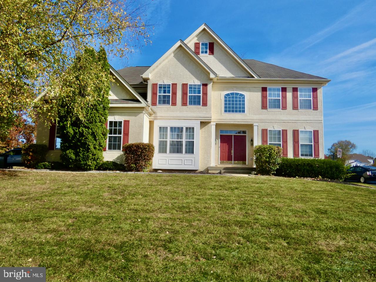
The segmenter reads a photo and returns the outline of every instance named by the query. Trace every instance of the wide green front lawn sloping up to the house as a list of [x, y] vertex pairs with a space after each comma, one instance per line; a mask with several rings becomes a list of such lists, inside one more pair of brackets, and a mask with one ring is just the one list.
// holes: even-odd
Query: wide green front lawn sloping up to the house
[[369, 188], [8, 171], [0, 187], [0, 266], [43, 266], [47, 281], [376, 280]]

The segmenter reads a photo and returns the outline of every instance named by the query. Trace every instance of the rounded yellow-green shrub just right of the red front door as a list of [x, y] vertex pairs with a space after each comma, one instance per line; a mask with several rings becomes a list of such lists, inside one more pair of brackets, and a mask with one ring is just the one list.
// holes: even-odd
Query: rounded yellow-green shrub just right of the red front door
[[253, 151], [256, 170], [259, 174], [275, 173], [281, 161], [282, 148], [273, 145], [258, 145]]

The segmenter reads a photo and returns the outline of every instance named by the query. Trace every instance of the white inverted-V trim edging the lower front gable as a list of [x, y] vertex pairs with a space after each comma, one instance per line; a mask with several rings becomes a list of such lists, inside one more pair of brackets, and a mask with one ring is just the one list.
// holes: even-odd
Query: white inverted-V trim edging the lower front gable
[[150, 78], [150, 73], [152, 73], [162, 62], [164, 62], [177, 48], [182, 47], [188, 54], [191, 55], [194, 61], [196, 61], [199, 65], [201, 65], [206, 71], [208, 71], [210, 78], [217, 77], [217, 73], [215, 73], [214, 70], [212, 70], [199, 56], [196, 55], [196, 53], [193, 52], [193, 50], [188, 47], [187, 44], [185, 44], [181, 39], [177, 41], [164, 55], [158, 59], [151, 67], [149, 67], [144, 73], [142, 74], [142, 77], [144, 79]]

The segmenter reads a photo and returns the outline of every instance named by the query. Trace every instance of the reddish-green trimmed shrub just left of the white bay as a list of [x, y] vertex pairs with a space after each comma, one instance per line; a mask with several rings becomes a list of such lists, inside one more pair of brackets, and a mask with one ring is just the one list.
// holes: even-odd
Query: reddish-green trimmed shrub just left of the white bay
[[149, 171], [154, 156], [154, 145], [129, 143], [123, 146], [124, 165], [129, 171]]

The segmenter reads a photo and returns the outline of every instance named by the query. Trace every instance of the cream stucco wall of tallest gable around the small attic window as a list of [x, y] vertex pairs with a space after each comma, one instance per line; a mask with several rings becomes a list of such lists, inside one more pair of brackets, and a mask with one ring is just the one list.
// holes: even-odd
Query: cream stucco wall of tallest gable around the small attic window
[[214, 42], [214, 55], [200, 55], [200, 58], [219, 76], [250, 76], [206, 30], [200, 32], [186, 44], [194, 51], [195, 42]]

